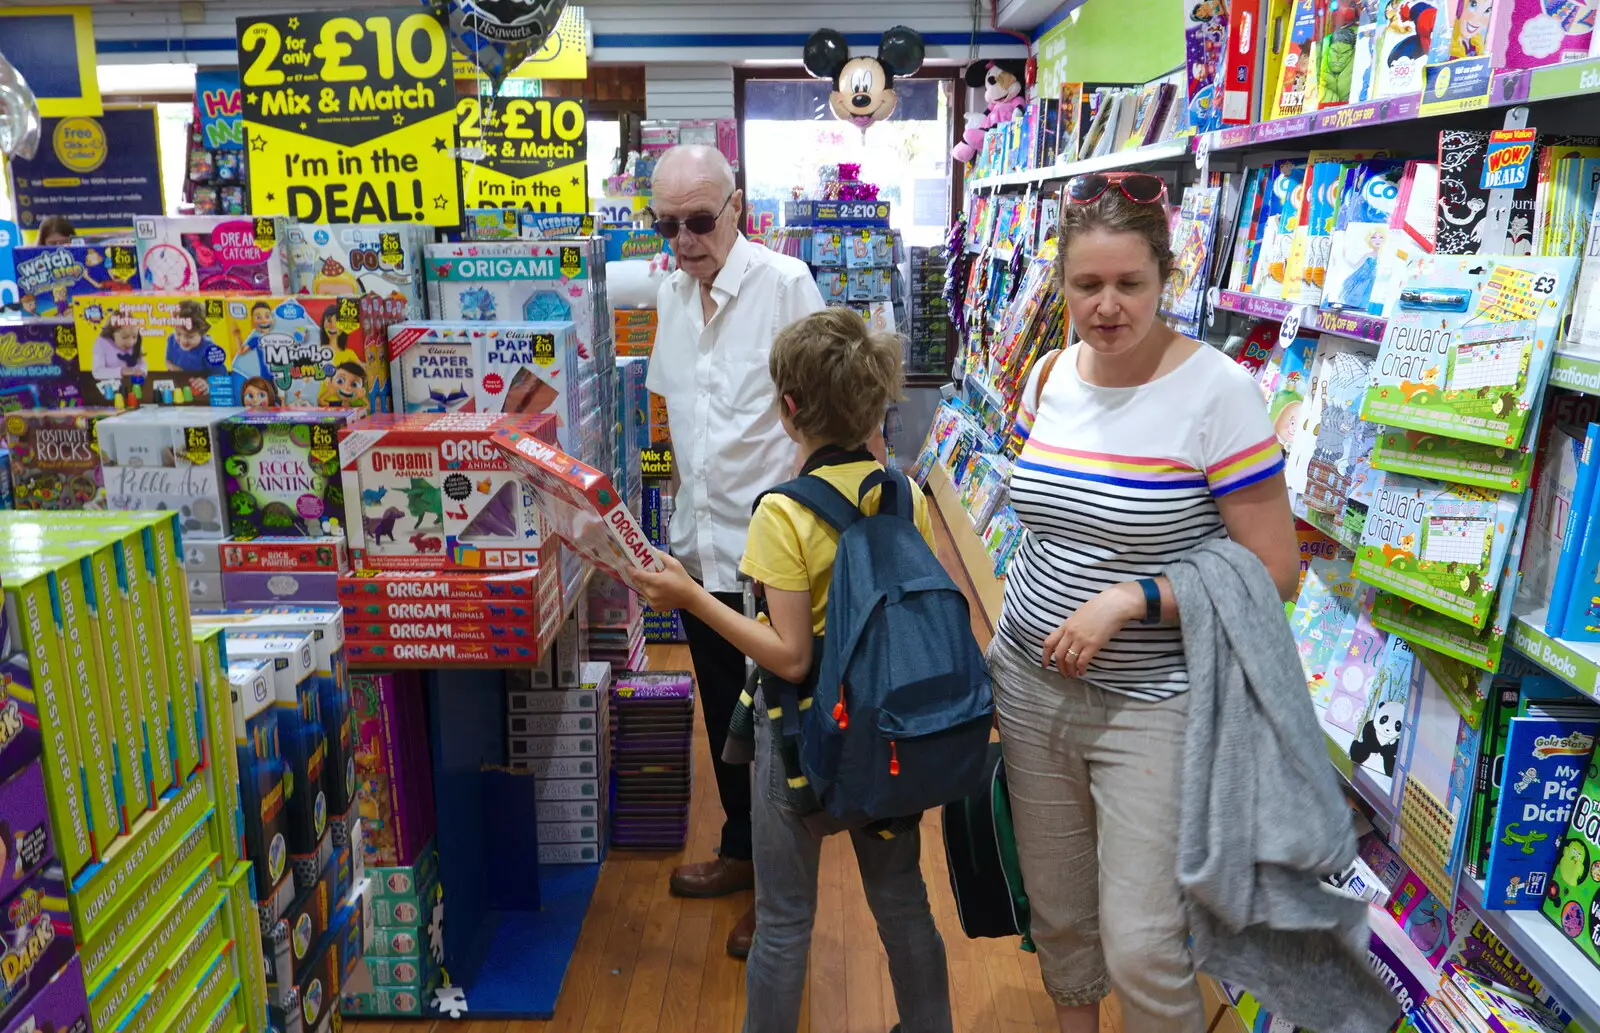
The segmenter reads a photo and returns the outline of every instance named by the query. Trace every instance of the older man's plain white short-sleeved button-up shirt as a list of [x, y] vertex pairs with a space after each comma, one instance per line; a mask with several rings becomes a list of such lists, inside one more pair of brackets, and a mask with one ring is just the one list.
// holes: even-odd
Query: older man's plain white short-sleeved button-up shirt
[[712, 592], [739, 590], [750, 509], [794, 472], [795, 443], [778, 421], [768, 358], [789, 323], [822, 310], [805, 262], [739, 235], [712, 285], [678, 270], [661, 285], [656, 349], [645, 387], [667, 403], [678, 494], [672, 555]]

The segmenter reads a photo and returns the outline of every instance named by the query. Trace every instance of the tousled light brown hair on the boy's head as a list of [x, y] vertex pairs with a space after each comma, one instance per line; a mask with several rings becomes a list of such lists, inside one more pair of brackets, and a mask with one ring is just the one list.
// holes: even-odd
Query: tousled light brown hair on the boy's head
[[824, 309], [786, 326], [768, 369], [778, 405], [787, 413], [784, 398], [794, 400], [789, 424], [819, 445], [864, 445], [901, 398], [899, 337], [867, 329], [850, 309]]

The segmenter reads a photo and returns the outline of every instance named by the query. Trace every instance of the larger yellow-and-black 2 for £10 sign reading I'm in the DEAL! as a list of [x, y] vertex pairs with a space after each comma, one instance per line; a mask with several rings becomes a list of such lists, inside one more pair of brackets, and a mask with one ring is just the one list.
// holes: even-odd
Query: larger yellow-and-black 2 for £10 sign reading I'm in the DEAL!
[[416, 8], [238, 19], [258, 216], [461, 224], [450, 37]]

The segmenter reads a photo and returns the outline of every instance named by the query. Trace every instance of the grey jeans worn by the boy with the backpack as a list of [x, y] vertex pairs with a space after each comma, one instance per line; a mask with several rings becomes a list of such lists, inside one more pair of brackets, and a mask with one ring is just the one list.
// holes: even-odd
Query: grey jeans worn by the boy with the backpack
[[[822, 840], [778, 803], [782, 798], [782, 771], [771, 734], [771, 723], [758, 704], [750, 793], [755, 942], [744, 974], [744, 1033], [795, 1033], [800, 1027], [800, 998], [816, 916], [818, 862], [822, 856]], [[867, 905], [890, 956], [901, 1028], [904, 1033], [950, 1033], [950, 979], [944, 940], [933, 924], [928, 887], [922, 881], [922, 832], [893, 840], [851, 832], [850, 838], [861, 865]]]

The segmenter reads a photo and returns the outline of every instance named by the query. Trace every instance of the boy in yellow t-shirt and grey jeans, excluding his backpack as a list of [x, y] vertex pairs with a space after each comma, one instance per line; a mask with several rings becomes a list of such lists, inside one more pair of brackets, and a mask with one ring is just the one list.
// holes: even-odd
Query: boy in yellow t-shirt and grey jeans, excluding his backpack
[[[899, 341], [870, 333], [848, 309], [827, 309], [778, 334], [770, 369], [784, 430], [810, 456], [802, 473], [856, 499], [861, 483], [883, 469], [864, 443], [899, 397]], [[877, 512], [877, 504], [874, 491], [862, 512]], [[926, 499], [918, 494], [914, 507], [917, 529], [933, 547]], [[818, 640], [827, 627], [837, 542], [832, 528], [794, 499], [762, 497], [739, 569], [763, 585], [770, 624], [718, 603], [670, 556], [661, 556], [666, 572], [635, 576], [656, 609], [693, 612], [768, 675], [803, 684], [813, 675]], [[755, 942], [746, 969], [744, 1030], [794, 1033], [822, 840], [794, 809], [766, 705], [754, 708]], [[950, 1033], [949, 972], [922, 879], [922, 836], [917, 825], [896, 833], [850, 832], [861, 881], [888, 953], [901, 1025], [906, 1033]]]

